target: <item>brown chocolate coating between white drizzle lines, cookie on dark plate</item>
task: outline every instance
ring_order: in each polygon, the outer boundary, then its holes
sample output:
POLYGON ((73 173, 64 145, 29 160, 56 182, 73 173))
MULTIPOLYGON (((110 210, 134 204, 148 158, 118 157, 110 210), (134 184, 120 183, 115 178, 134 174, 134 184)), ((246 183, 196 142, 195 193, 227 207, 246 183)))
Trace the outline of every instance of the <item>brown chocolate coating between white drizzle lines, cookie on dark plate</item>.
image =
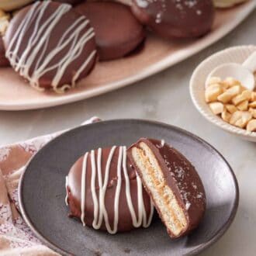
MULTIPOLYGON (((109 157, 109 153, 112 150, 112 147, 102 149, 102 157, 101 157, 101 174, 102 180, 104 181, 106 175, 106 164, 109 157)), ((99 150, 94 150, 95 159, 97 159, 99 150)), ((126 152, 126 150, 125 150, 126 152)), ((67 176, 67 203, 70 208, 70 216, 76 217, 78 219, 81 218, 81 177, 82 177, 82 169, 83 169, 83 161, 85 156, 82 156, 74 163, 69 171, 67 176)), ((115 199, 116 199, 116 189, 117 189, 117 166, 119 159, 119 147, 116 147, 114 153, 112 155, 112 161, 110 162, 109 168, 109 179, 106 186, 105 193, 105 207, 106 213, 109 219, 110 227, 113 229, 113 223, 115 220, 115 199)), ((132 168, 130 161, 126 162, 127 174, 130 181, 130 195, 131 202, 134 207, 134 211, 136 216, 138 216, 138 185, 137 185, 137 173, 132 168)), ((99 168, 96 168, 95 171, 95 190, 97 201, 99 202, 99 168)), ((92 195, 92 151, 88 153, 87 164, 86 164, 86 175, 85 175, 85 224, 86 226, 93 227, 93 221, 95 219, 94 210, 95 210, 95 202, 93 201, 92 195)), ((123 168, 121 171, 121 189, 119 193, 119 214, 118 214, 118 224, 117 224, 117 232, 129 231, 132 230, 133 220, 130 213, 130 208, 127 204, 126 199, 126 181, 124 177, 123 168)), ((102 181, 102 182, 103 182, 102 181)), ((104 183, 104 182, 103 182, 104 183)), ((144 209, 147 216, 147 220, 150 221, 150 213, 153 207, 151 208, 150 197, 147 195, 147 192, 142 187, 142 198, 144 202, 144 209)), ((100 207, 99 207, 100 208, 100 207)), ((152 211, 153 213, 153 211, 152 211)), ((98 215, 97 215, 98 217, 98 215)), ((100 230, 107 230, 106 222, 103 217, 102 225, 99 227, 100 230)))

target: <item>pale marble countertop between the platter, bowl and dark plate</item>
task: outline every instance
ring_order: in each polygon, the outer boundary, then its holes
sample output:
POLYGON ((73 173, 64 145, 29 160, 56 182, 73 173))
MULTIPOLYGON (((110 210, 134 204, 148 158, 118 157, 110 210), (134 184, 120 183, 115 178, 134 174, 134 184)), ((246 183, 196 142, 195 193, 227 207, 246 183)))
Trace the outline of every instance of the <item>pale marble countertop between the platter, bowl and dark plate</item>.
POLYGON ((200 61, 226 47, 256 44, 256 10, 232 33, 175 67, 115 92, 66 106, 23 112, 0 111, 0 145, 26 140, 79 123, 102 119, 153 119, 180 126, 213 144, 227 158, 240 186, 240 204, 227 233, 202 255, 251 256, 256 252, 256 144, 206 121, 189 96, 189 78, 200 61))

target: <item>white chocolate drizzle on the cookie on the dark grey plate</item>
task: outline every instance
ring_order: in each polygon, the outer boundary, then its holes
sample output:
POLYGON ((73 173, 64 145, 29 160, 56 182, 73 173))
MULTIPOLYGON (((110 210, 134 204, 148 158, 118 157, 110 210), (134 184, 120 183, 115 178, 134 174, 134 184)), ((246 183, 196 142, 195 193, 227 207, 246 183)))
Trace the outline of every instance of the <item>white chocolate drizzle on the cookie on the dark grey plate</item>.
MULTIPOLYGON (((149 227, 153 214, 154 214, 154 206, 153 202, 150 200, 150 214, 147 216, 145 206, 144 206, 144 197, 143 197, 143 185, 140 180, 140 177, 137 175, 137 211, 135 213, 135 209, 133 206, 133 201, 130 192, 130 178, 128 176, 127 168, 126 168, 126 147, 118 147, 119 155, 118 162, 116 167, 116 192, 114 198, 114 220, 112 223, 112 227, 109 223, 109 216, 105 206, 105 195, 106 189, 109 183, 109 171, 110 165, 112 163, 112 157, 117 150, 117 147, 114 146, 109 151, 109 156, 106 161, 106 170, 104 175, 104 180, 102 180, 102 149, 99 148, 97 152, 97 159, 95 159, 95 150, 91 150, 90 152, 90 160, 92 167, 92 178, 91 178, 91 191, 92 191, 92 201, 94 205, 94 220, 92 222, 92 227, 98 230, 102 227, 102 223, 106 225, 106 230, 109 234, 116 234, 119 223, 119 195, 122 187, 122 172, 126 185, 126 202, 127 206, 130 210, 130 216, 133 221, 133 227, 149 227), (99 184, 99 199, 97 198, 95 181, 96 177, 98 177, 99 184)), ((88 161, 88 153, 85 154, 83 158, 82 171, 81 171, 81 222, 85 226, 85 183, 86 183, 86 168, 88 161)), ((67 183, 66 183, 67 187, 67 183)))

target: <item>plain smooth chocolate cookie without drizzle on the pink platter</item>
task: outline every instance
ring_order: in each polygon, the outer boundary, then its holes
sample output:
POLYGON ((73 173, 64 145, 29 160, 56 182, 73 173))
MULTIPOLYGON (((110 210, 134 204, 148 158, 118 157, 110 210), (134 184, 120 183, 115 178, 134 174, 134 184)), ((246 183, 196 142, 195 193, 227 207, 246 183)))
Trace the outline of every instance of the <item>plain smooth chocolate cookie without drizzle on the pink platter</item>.
POLYGON ((130 11, 117 2, 85 2, 75 10, 85 15, 95 29, 100 61, 124 57, 145 39, 144 27, 130 11))

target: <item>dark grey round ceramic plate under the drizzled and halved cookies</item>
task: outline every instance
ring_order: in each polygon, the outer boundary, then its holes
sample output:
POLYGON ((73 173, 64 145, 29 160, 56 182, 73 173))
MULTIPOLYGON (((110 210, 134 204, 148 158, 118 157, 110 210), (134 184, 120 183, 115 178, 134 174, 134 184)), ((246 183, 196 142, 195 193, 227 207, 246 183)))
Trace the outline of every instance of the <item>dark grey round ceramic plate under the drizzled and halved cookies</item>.
POLYGON ((184 255, 213 244, 234 220, 237 181, 230 165, 205 141, 175 126, 119 119, 81 126, 43 147, 29 162, 19 186, 22 216, 45 244, 61 254, 184 255), (160 220, 147 229, 110 235, 67 217, 65 176, 85 151, 129 146, 140 137, 164 139, 195 165, 206 189, 206 215, 188 237, 171 240, 160 220))

